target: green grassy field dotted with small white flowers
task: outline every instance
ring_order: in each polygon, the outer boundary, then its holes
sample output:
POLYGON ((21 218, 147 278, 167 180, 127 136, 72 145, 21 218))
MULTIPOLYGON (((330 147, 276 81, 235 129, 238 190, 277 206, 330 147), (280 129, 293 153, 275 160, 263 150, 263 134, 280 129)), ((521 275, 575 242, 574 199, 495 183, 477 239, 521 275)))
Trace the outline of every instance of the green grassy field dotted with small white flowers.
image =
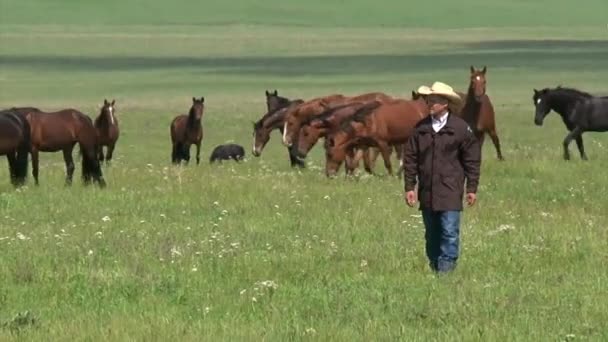
POLYGON ((305 3, 0 0, 0 107, 94 116, 115 98, 122 129, 104 190, 65 188, 59 154, 39 187, 0 167, 0 340, 608 339, 608 134, 565 162, 561 120, 534 126, 532 105, 558 84, 608 94, 607 3, 305 3), (328 180, 318 147, 292 170, 278 133, 249 154, 265 89, 464 90, 471 64, 507 161, 486 143, 448 277, 399 179, 328 180), (204 162, 173 167, 193 96, 204 162), (208 165, 229 141, 246 162, 208 165))

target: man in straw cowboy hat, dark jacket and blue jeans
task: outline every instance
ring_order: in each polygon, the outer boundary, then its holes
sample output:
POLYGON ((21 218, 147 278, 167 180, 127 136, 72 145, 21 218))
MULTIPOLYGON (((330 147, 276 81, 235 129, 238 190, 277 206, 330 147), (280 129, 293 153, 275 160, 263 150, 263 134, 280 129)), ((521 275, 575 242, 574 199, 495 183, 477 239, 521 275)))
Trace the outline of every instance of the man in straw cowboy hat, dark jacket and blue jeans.
POLYGON ((452 87, 435 82, 422 86, 430 116, 421 120, 405 146, 405 200, 420 200, 426 229, 426 254, 431 269, 450 272, 459 255, 460 213, 464 181, 469 206, 477 200, 481 150, 471 128, 449 108, 462 99, 452 87), (418 196, 414 191, 418 182, 418 196))

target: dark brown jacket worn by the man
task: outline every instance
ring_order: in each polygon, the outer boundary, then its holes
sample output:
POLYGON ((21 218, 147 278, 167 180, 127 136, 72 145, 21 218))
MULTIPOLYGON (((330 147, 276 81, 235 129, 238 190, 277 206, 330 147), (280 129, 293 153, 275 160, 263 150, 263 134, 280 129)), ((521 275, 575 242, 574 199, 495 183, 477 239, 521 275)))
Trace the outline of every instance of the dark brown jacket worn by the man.
POLYGON ((414 190, 418 178, 420 209, 462 210, 464 183, 476 193, 481 148, 467 123, 449 114, 435 133, 430 116, 421 120, 405 147, 405 191, 414 190))

